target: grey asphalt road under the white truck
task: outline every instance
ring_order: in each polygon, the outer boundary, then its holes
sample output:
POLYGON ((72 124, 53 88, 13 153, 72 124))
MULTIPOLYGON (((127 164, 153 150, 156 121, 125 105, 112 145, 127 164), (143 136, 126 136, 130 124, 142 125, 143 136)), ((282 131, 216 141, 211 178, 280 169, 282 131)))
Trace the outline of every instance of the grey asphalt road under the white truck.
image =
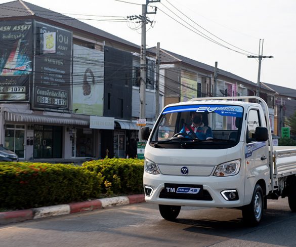
POLYGON ((5 225, 0 246, 296 246, 296 214, 269 200, 260 226, 246 227, 239 210, 183 207, 168 222, 157 205, 129 204, 5 225))

